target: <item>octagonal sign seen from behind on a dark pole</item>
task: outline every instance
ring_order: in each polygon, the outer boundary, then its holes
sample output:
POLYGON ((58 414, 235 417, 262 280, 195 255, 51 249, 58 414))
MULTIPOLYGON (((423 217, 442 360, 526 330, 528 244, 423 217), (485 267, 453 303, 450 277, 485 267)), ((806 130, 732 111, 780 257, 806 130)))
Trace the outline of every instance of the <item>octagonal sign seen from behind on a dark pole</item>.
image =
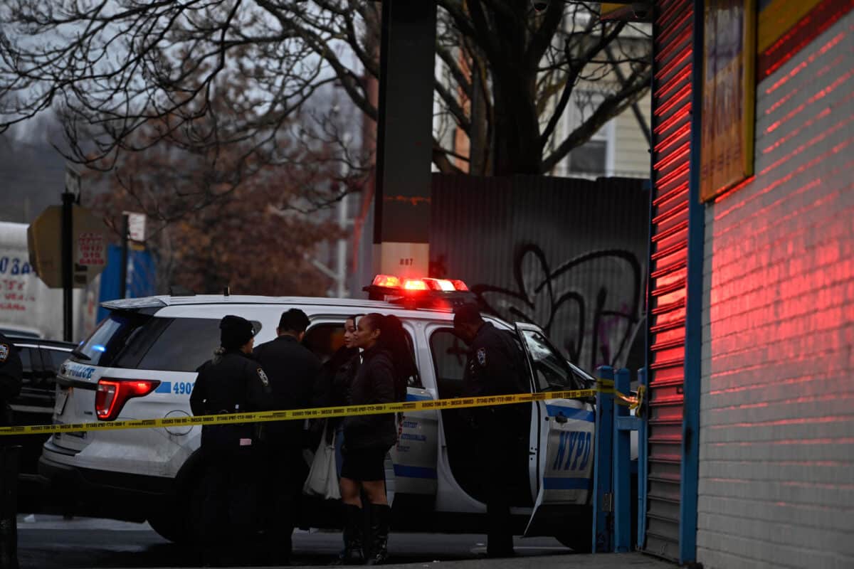
MULTIPOLYGON (((107 264, 107 228, 85 207, 73 206, 73 287, 85 287, 107 264)), ((32 267, 48 287, 62 287, 62 206, 48 206, 27 229, 32 267)))

